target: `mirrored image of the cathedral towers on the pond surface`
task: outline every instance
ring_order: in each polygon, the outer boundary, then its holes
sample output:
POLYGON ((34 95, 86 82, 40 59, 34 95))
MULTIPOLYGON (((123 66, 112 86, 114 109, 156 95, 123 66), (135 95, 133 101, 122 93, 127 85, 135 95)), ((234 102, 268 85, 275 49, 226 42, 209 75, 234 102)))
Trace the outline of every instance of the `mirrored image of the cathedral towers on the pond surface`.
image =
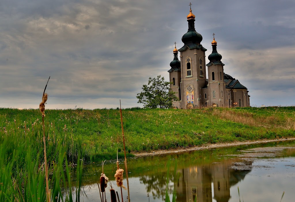
MULTIPOLYGON (((252 165, 252 162, 245 162, 252 165)), ((214 199, 217 202, 230 200, 230 187, 245 178, 251 170, 234 170, 232 163, 199 165, 178 170, 180 177, 174 184, 176 201, 212 202, 212 183, 214 199)))

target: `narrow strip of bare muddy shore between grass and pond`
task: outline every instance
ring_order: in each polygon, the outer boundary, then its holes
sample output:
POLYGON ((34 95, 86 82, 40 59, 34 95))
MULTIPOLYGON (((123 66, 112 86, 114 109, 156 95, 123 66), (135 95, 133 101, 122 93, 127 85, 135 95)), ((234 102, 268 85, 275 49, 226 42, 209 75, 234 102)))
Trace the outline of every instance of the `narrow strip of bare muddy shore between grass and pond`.
POLYGON ((255 140, 255 141, 249 140, 249 141, 232 142, 232 143, 204 144, 201 146, 182 147, 182 148, 179 147, 177 149, 169 149, 169 150, 151 150, 150 152, 137 152, 132 154, 134 154, 135 157, 165 155, 165 154, 171 154, 171 153, 183 153, 183 152, 196 151, 196 150, 202 150, 202 149, 232 147, 232 146, 238 146, 238 145, 250 145, 250 144, 268 143, 268 142, 276 142, 276 141, 286 141, 286 140, 295 140, 295 138, 279 138, 279 139, 267 139, 267 140, 255 140))

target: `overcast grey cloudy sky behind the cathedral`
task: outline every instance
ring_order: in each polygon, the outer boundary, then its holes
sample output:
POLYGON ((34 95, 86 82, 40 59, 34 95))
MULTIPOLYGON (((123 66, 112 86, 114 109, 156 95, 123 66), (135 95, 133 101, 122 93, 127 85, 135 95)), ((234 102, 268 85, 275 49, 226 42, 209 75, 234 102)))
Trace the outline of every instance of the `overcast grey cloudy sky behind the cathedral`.
MULTIPOLYGON (((189 1, 1 0, 0 107, 136 107, 149 77, 169 78, 189 1)), ((196 31, 252 106, 295 104, 294 0, 192 1, 196 31)), ((208 61, 206 61, 208 62, 208 61)))

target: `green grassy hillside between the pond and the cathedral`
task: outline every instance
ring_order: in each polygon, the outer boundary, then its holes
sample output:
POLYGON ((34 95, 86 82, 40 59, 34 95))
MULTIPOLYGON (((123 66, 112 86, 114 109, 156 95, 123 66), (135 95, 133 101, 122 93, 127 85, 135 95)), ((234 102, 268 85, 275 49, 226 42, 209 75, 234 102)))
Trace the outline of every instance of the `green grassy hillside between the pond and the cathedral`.
MULTIPOLYGON (((119 109, 45 110, 45 114, 46 144, 49 150, 52 146, 51 152, 62 142, 73 162, 78 152, 88 162, 114 159, 117 148, 119 156, 123 155, 119 109)), ((130 108, 122 110, 122 114, 128 153, 295 136, 295 107, 130 108)), ((31 138, 36 143, 30 144, 41 147, 41 119, 39 110, 0 108, 0 145, 7 138, 12 142, 14 138, 31 138)))

